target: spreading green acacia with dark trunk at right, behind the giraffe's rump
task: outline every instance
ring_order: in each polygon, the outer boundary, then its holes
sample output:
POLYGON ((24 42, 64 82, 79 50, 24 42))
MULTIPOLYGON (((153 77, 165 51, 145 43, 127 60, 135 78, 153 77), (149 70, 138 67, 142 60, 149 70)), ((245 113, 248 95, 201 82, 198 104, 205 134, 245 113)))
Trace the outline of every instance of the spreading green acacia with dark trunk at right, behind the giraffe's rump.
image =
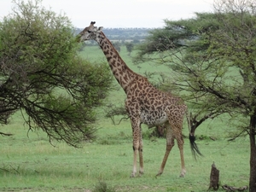
POLYGON ((195 124, 222 113, 236 119, 235 137, 250 137, 250 191, 256 191, 255 26, 255 1, 218 0, 214 13, 166 20, 166 27, 152 31, 138 55, 172 68, 171 89, 193 103, 189 109, 195 124))

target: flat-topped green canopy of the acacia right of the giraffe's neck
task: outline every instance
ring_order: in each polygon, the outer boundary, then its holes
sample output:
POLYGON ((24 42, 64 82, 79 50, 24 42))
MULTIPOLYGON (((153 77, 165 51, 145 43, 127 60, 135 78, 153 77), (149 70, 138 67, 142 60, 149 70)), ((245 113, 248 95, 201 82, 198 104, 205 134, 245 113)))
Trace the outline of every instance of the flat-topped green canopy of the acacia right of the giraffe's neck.
MULTIPOLYGON (((202 50, 209 47, 205 34, 212 30, 217 30, 221 24, 218 22, 216 15, 212 13, 195 13, 196 17, 188 20, 165 20, 164 28, 149 31, 146 41, 138 46, 139 52, 137 59, 151 60, 150 54, 165 53, 168 50, 170 55, 179 53, 186 49, 186 52, 193 54, 203 54, 202 50), (170 52, 172 50, 172 53, 170 52), (149 55, 148 55, 149 54, 149 55)), ((183 55, 188 59, 196 59, 191 55, 183 55)), ((166 55, 166 53, 165 53, 166 55)), ((161 58, 163 59, 163 57, 161 58)), ((164 60, 166 61, 166 59, 164 60)), ((195 61, 189 61, 195 63, 195 61)))

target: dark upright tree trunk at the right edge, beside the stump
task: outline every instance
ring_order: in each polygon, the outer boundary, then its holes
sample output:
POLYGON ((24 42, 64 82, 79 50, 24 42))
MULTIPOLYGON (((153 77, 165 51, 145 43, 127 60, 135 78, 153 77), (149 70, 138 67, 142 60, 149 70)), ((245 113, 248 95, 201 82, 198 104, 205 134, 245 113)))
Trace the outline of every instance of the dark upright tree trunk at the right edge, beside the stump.
POLYGON ((250 120, 250 144, 251 144, 251 156, 250 156, 250 183, 249 191, 256 191, 256 146, 255 146, 255 127, 256 116, 251 116, 250 120))

